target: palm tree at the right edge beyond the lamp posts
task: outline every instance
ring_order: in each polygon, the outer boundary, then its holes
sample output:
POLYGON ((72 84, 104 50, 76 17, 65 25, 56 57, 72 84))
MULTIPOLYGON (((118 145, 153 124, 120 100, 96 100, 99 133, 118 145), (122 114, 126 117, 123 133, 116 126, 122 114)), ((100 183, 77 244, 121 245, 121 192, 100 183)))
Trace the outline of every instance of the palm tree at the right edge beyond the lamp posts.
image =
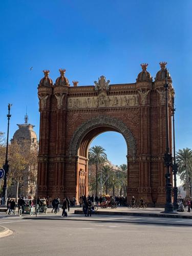
POLYGON ((189 180, 192 178, 192 151, 186 147, 183 150, 179 150, 176 155, 178 174, 182 181, 184 181, 183 187, 187 190, 187 197, 189 197, 189 180))

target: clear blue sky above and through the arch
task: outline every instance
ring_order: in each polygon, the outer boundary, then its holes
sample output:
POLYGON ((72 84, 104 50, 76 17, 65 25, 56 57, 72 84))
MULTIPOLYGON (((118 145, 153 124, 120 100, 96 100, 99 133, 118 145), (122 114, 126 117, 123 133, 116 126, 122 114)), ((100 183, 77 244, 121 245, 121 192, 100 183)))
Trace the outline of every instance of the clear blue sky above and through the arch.
MULTIPOLYGON (((176 145, 191 148, 191 7, 191 0, 1 1, 0 131, 7 130, 10 102, 10 137, 24 122, 26 106, 38 135, 37 84, 43 69, 55 81, 58 69, 66 68, 71 84, 94 84, 100 75, 129 83, 140 63, 147 62, 155 77, 159 62, 167 61, 176 91, 176 145)), ((125 142, 118 136, 107 133, 93 141, 115 164, 126 162, 125 142)))

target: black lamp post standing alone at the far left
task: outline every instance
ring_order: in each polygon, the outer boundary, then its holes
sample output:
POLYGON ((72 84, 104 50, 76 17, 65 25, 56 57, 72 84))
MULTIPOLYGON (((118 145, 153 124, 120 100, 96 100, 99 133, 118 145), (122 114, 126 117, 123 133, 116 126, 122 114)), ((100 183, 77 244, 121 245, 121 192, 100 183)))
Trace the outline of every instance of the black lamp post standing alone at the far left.
POLYGON ((4 186, 3 186, 3 197, 4 197, 4 202, 7 203, 7 174, 9 172, 9 164, 8 164, 8 144, 9 144, 9 120, 11 118, 10 115, 10 109, 11 109, 12 104, 8 104, 8 125, 7 125, 7 146, 6 146, 6 156, 5 156, 5 164, 3 166, 5 170, 5 176, 4 176, 4 186))

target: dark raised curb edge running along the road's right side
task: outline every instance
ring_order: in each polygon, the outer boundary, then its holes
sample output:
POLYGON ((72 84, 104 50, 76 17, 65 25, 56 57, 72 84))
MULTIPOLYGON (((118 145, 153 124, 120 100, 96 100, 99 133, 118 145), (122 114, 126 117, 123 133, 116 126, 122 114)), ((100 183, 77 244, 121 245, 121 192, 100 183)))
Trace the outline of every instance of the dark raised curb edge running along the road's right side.
MULTIPOLYGON (((75 210, 74 214, 83 215, 82 210, 75 210)), ((115 215, 115 216, 142 216, 142 217, 158 217, 158 218, 177 218, 177 219, 192 219, 192 215, 175 214, 150 214, 145 212, 117 212, 117 211, 96 211, 95 215, 115 215)))

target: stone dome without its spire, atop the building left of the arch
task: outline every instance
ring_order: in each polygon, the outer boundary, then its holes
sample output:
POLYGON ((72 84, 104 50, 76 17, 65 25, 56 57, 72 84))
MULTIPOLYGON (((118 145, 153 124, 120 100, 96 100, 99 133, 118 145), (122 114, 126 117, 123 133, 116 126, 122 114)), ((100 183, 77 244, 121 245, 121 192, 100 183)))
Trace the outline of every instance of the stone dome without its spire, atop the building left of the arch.
POLYGON ((23 123, 17 124, 18 130, 13 135, 13 140, 17 140, 18 142, 22 142, 23 140, 29 140, 31 142, 31 146, 37 146, 37 135, 33 131, 34 125, 23 123))

